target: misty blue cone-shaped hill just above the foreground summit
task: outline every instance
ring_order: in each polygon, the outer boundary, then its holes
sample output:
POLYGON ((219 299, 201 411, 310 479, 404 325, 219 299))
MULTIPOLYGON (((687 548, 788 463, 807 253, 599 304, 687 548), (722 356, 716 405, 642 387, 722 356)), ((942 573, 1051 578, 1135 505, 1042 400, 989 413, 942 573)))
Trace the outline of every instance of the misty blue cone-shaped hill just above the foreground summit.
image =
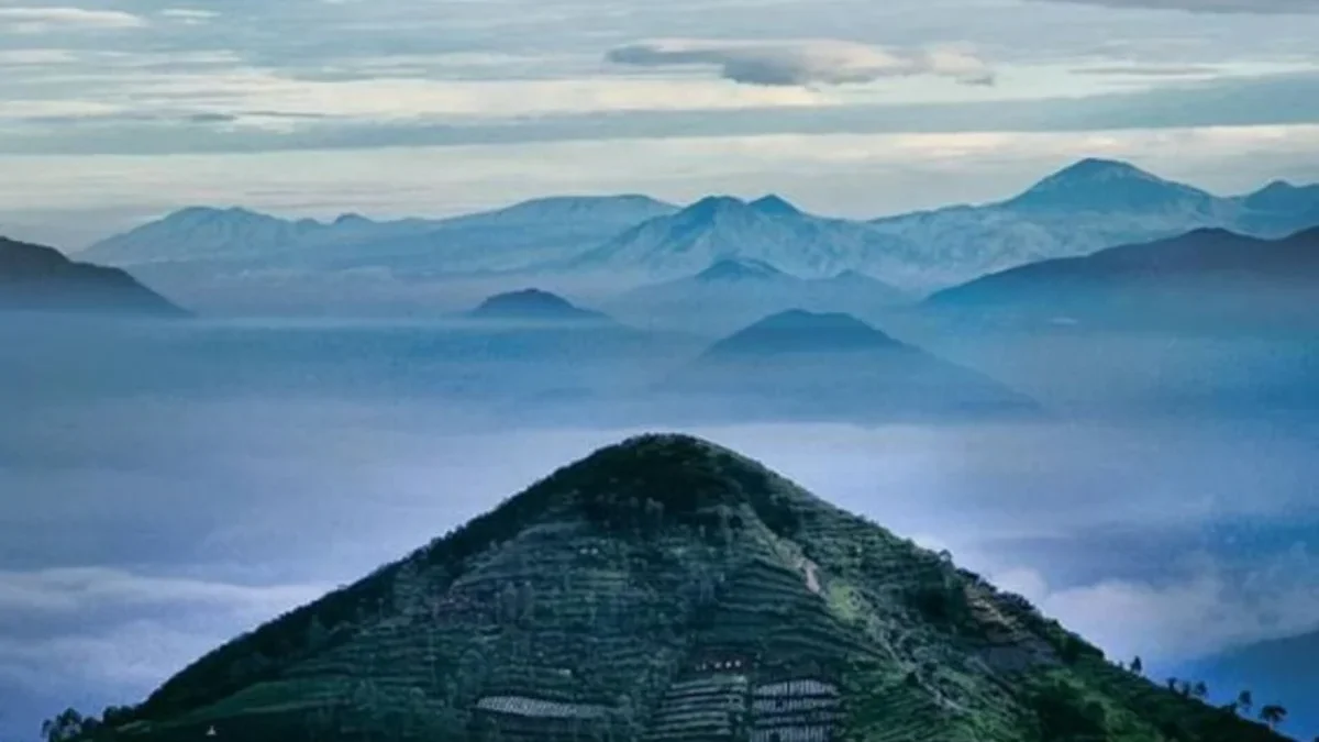
POLYGON ((1038 412, 1030 399, 842 313, 789 310, 711 346, 660 384, 669 409, 880 421, 1038 412))

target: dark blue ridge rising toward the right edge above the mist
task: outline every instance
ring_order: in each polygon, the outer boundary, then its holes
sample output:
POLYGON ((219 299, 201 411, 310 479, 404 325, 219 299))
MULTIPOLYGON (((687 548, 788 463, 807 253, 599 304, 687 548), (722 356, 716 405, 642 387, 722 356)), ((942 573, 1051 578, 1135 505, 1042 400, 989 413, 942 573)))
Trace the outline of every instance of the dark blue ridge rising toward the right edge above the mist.
POLYGON ((1220 228, 1043 260, 935 293, 934 309, 1037 322, 1316 325, 1319 228, 1266 240, 1220 228))

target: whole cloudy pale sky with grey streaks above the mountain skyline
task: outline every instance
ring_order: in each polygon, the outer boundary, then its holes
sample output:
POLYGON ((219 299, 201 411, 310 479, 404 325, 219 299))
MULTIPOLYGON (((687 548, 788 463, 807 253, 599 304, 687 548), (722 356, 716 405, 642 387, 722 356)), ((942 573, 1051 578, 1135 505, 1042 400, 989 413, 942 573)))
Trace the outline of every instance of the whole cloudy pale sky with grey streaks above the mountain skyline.
POLYGON ((1319 180, 1316 36, 1315 0, 0 0, 0 228, 613 191, 880 215, 1089 154, 1242 191, 1319 180))

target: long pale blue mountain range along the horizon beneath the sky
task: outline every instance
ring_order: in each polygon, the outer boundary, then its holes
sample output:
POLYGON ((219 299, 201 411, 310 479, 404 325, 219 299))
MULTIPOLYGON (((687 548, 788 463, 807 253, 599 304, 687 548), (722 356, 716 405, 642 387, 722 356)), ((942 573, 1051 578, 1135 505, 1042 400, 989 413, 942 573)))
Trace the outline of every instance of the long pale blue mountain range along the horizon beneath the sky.
MULTIPOLYGON (((604 276, 617 290, 696 276, 723 260, 798 279, 856 271, 929 292, 1017 265, 1202 228, 1281 238, 1319 224, 1319 186, 1273 182, 1217 197, 1130 164, 1083 160, 1006 201, 871 222, 803 213, 777 195, 703 198, 685 209, 642 195, 557 197, 451 219, 323 223, 193 207, 88 248, 90 259, 179 275, 375 271, 397 277, 604 276), (197 271, 206 265, 206 271, 197 271), (189 271, 191 268, 191 271, 189 271)), ((351 300, 351 292, 343 300, 351 300)))

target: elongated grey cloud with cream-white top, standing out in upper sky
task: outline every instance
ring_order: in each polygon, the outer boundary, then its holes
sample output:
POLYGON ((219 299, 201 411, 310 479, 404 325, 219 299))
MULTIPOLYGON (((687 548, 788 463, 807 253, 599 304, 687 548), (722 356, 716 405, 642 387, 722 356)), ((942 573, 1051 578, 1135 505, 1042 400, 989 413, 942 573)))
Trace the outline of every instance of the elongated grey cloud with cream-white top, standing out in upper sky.
POLYGON ((867 83, 914 75, 947 77, 968 84, 995 79, 984 61, 954 46, 907 51, 838 40, 657 40, 619 46, 607 58, 641 67, 715 67, 725 79, 761 86, 867 83))

